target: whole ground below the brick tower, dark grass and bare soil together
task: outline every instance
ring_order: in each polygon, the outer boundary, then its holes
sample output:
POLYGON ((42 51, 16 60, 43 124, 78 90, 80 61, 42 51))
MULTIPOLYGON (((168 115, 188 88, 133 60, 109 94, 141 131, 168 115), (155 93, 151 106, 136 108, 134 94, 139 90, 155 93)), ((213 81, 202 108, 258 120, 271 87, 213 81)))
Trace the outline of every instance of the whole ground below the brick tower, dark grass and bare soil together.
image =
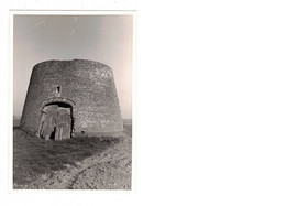
POLYGON ((14 128, 14 188, 130 188, 132 123, 124 129, 125 138, 44 141, 14 128))

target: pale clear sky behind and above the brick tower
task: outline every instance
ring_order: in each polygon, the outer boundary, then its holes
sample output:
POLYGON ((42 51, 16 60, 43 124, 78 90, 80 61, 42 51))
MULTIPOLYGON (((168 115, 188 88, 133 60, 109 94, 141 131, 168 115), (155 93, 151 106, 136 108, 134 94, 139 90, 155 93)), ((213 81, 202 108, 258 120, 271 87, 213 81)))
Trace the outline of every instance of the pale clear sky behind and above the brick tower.
POLYGON ((14 116, 35 64, 80 58, 113 69, 122 118, 132 118, 132 15, 14 15, 13 23, 14 116))

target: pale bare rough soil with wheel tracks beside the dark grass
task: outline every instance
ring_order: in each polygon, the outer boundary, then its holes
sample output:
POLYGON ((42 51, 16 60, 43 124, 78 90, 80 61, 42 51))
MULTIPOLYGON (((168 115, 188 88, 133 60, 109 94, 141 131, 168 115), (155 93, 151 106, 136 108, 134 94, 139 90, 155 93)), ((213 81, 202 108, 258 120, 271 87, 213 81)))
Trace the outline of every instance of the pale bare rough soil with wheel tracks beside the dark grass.
MULTIPOLYGON (((132 124, 125 128, 132 128, 132 124)), ((65 164, 63 170, 41 174, 28 184, 14 182, 14 188, 131 189, 132 132, 128 130, 125 137, 119 138, 118 143, 111 144, 102 152, 75 164, 65 164)))

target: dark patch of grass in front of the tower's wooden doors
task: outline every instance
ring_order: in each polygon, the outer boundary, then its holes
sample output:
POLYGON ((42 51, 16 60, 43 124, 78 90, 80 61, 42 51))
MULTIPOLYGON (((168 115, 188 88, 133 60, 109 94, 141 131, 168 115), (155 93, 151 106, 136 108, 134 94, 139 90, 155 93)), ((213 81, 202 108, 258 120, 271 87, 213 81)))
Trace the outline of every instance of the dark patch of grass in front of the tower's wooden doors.
MULTIPOLYGON (((130 128, 129 128, 130 129, 130 128)), ((65 169, 67 164, 100 154, 114 145, 119 139, 74 138, 64 141, 45 141, 29 137, 14 128, 13 139, 13 181, 28 184, 42 174, 65 169)))

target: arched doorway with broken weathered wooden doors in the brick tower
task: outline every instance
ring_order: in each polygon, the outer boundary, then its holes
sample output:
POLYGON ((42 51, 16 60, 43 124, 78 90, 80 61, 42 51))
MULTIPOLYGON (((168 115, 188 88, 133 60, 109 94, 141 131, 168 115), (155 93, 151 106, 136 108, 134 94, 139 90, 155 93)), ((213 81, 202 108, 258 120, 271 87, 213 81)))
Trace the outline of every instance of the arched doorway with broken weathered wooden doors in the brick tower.
POLYGON ((70 139, 74 121, 73 107, 67 102, 52 101, 42 107, 37 135, 45 140, 70 139))

